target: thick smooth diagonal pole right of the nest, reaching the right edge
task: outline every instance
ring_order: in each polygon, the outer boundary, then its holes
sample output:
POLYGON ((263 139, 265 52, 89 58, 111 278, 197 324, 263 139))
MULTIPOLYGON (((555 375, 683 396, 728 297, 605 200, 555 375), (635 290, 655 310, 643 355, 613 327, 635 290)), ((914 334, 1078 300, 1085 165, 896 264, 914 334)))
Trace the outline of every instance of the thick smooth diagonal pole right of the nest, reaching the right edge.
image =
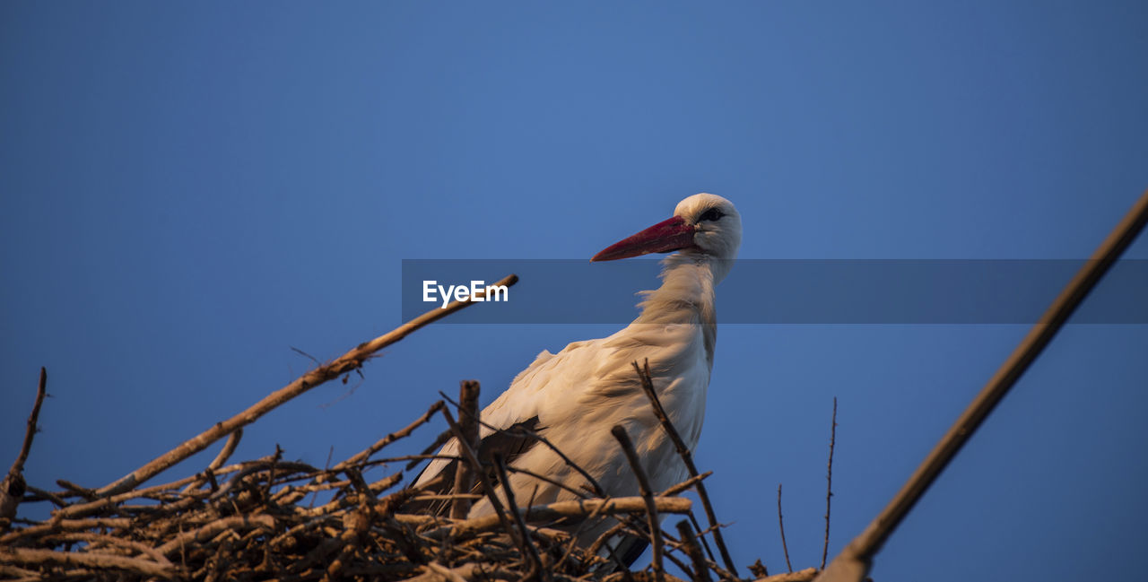
POLYGON ((1001 364, 1001 367, 982 388, 977 397, 945 433, 945 436, 933 447, 933 450, 914 471, 897 496, 889 502, 889 505, 866 527, 861 535, 850 542, 841 550, 841 553, 833 558, 829 569, 819 576, 819 580, 848 581, 861 580, 866 576, 874 554, 881 550, 890 534, 897 529, 905 515, 916 505, 953 457, 960 452, 969 437, 1013 388, 1013 385, 1032 365, 1032 362, 1048 346, 1088 293, 1096 287, 1096 284, 1119 258, 1120 254, 1135 240, 1146 223, 1148 223, 1148 191, 1145 191, 1128 210, 1128 214, 1120 219, 1116 228, 1092 254, 1088 262, 1061 290, 1061 294, 1041 316, 1040 321, 1032 326, 1029 334, 1001 364))

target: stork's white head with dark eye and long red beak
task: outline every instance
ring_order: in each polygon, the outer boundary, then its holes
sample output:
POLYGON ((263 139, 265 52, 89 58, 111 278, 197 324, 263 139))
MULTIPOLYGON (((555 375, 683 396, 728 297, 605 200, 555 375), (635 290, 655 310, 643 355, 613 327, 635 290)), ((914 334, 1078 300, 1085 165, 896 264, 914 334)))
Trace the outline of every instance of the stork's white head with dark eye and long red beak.
POLYGON ((728 261, 742 245, 742 216, 716 194, 695 194, 677 203, 674 216, 611 245, 590 261, 614 261, 650 253, 695 254, 728 261))

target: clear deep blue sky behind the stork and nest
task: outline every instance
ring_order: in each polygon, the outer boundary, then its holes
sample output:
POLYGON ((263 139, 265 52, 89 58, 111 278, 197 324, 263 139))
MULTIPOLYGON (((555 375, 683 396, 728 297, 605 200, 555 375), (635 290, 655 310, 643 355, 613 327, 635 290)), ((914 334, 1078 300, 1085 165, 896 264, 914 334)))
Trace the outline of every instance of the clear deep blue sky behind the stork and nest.
MULTIPOLYGON (((102 486, 308 368, 289 347, 397 325, 403 258, 589 258, 696 192, 737 204, 746 258, 1085 257, 1148 186, 1146 26, 1142 1, 0 3, 0 463, 41 365, 30 482, 102 486)), ((615 329, 436 326, 238 455, 344 458, 615 329)), ((743 572, 783 568, 778 482, 794 566, 820 558, 833 396, 831 552, 1025 331, 723 327, 697 458, 743 572)), ((1139 575, 1146 348, 1069 326, 875 579, 1139 575)))

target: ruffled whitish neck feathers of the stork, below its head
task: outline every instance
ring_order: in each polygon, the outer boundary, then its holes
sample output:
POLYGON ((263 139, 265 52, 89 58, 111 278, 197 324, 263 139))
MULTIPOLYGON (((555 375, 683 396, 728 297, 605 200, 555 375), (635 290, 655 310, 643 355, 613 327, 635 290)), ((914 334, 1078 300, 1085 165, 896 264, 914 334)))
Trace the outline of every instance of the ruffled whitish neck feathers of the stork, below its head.
POLYGON ((682 251, 662 261, 661 287, 643 292, 642 315, 634 324, 690 324, 700 327, 706 360, 712 365, 718 340, 714 286, 729 272, 729 262, 699 251, 682 251))

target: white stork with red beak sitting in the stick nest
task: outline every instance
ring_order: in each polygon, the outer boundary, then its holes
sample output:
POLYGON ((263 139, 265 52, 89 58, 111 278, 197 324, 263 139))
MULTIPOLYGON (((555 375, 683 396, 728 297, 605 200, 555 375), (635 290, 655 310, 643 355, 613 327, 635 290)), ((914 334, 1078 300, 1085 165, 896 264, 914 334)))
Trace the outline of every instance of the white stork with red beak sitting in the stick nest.
MULTIPOLYGON (((510 467, 545 475, 575 490, 590 484, 550 448, 537 440, 509 436, 525 427, 544 436, 581 466, 612 497, 638 495, 638 484, 618 441, 614 425, 626 428, 654 491, 683 481, 687 468, 666 437, 642 391, 633 362, 649 360, 653 386, 666 413, 692 450, 701 434, 706 390, 713 367, 716 316, 714 287, 737 256, 742 219, 730 201, 714 194, 695 194, 677 204, 674 216, 595 255, 613 261, 650 253, 672 253, 662 261, 661 287, 643 292, 642 313, 625 329, 600 340, 574 342, 558 354, 543 350, 510 388, 481 413, 479 456, 501 452, 510 467), (499 433, 496 427, 504 429, 499 433)), ((458 456, 450 441, 441 455, 458 456)), ((448 459, 432 461, 414 486, 425 486, 444 470, 448 459)), ((452 482, 440 480, 428 492, 450 492, 452 482)), ((520 505, 577 498, 573 492, 525 473, 511 472, 510 482, 520 505)), ((503 498, 505 504, 505 498, 503 498)), ((430 511, 442 512, 445 504, 430 511)), ((491 513, 488 499, 478 500, 470 517, 491 513)), ((596 540, 608 523, 582 528, 580 541, 596 540)), ((633 562, 645 544, 619 549, 633 562)))

